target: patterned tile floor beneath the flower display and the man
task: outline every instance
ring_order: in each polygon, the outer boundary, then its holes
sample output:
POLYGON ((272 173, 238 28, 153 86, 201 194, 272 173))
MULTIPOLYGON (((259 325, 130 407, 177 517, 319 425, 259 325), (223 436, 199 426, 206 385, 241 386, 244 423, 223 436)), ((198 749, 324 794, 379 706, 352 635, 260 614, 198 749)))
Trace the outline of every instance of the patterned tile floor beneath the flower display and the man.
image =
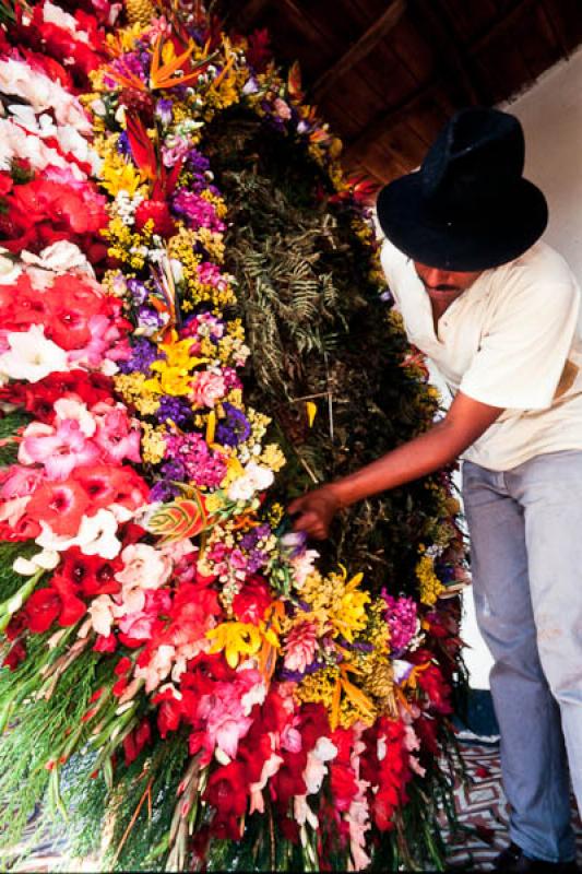
MULTIPOLYGON (((448 864, 453 871, 486 872, 491 869, 492 860, 508 842, 508 808, 501 788, 499 748, 496 743, 485 744, 478 740, 462 741, 461 748, 468 781, 466 786, 459 786, 456 789, 456 807, 462 830, 449 840, 448 864)), ((579 861, 582 862, 582 823, 574 805, 572 817, 577 828, 579 861)), ((27 831, 22 845, 13 849, 11 858, 0 859, 0 870, 11 869, 21 874, 49 874, 71 870, 67 860, 64 829, 58 835, 47 835, 39 840, 34 835, 33 820, 27 831), (29 841, 31 838, 36 843, 34 852, 25 862, 14 864, 26 840, 29 841)), ((99 866, 95 861, 86 860, 82 865, 75 861, 74 870, 99 871, 99 866)))

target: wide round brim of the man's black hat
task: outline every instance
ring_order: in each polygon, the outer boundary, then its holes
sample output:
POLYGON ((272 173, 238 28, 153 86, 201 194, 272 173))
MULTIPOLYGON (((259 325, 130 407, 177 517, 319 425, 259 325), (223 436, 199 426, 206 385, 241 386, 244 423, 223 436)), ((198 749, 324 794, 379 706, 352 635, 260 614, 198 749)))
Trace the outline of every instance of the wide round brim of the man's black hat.
POLYGON ((385 236, 414 261, 440 270, 476 271, 504 264, 526 251, 544 233, 547 203, 542 191, 521 179, 495 212, 477 221, 438 221, 427 209, 420 172, 384 186, 378 221, 385 236))

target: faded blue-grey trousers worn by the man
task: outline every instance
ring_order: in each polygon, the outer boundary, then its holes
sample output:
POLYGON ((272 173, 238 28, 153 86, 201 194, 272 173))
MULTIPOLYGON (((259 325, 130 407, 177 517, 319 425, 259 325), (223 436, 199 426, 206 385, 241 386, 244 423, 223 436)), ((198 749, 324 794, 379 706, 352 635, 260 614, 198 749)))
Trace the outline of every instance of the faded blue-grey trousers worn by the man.
POLYGON ((582 451, 502 473, 465 461, 463 498, 510 837, 526 855, 568 861, 568 764, 582 811, 582 451))

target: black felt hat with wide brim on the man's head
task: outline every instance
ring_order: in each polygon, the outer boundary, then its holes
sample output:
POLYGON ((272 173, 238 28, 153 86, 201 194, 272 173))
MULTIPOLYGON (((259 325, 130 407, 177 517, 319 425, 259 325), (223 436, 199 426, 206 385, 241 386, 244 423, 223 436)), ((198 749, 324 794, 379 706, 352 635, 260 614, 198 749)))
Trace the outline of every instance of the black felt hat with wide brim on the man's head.
POLYGON ((544 233, 542 191, 523 178, 523 130, 509 113, 461 109, 419 170, 387 185, 378 221, 405 255, 441 270, 472 271, 512 261, 544 233))

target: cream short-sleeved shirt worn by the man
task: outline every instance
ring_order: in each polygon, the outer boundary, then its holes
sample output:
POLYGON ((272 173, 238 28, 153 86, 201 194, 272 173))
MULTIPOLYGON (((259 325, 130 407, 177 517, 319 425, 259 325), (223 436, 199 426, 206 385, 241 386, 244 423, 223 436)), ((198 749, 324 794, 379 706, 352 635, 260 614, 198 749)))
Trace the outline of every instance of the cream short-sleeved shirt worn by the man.
POLYGON ((503 413, 463 458, 506 471, 534 456, 582 449, 580 288, 563 258, 536 243, 486 270, 440 317, 411 259, 384 241, 390 291, 411 343, 454 394, 503 413))

